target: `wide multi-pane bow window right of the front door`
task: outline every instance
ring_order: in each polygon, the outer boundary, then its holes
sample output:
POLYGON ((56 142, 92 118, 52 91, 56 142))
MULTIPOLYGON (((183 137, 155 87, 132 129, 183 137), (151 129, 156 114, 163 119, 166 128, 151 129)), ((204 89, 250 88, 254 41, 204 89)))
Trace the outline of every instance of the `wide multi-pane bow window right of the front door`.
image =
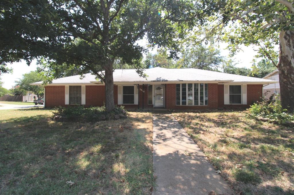
POLYGON ((208 84, 176 84, 176 105, 208 105, 208 84))

